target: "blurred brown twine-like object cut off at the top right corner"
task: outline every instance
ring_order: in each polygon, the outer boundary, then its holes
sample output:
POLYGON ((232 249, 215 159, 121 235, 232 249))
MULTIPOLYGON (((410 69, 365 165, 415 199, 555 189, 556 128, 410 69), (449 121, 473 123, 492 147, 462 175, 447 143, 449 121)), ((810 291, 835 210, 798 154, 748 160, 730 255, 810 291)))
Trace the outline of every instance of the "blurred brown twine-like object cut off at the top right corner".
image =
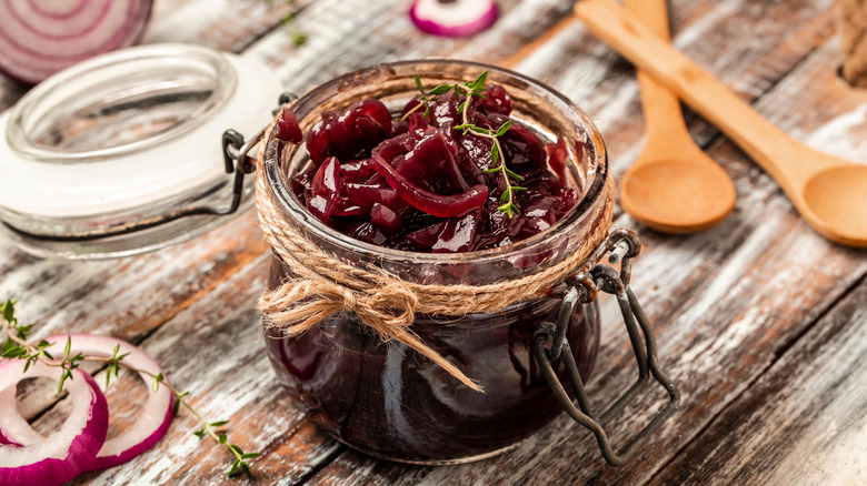
POLYGON ((837 32, 843 50, 843 78, 867 88, 867 1, 837 0, 837 32))

